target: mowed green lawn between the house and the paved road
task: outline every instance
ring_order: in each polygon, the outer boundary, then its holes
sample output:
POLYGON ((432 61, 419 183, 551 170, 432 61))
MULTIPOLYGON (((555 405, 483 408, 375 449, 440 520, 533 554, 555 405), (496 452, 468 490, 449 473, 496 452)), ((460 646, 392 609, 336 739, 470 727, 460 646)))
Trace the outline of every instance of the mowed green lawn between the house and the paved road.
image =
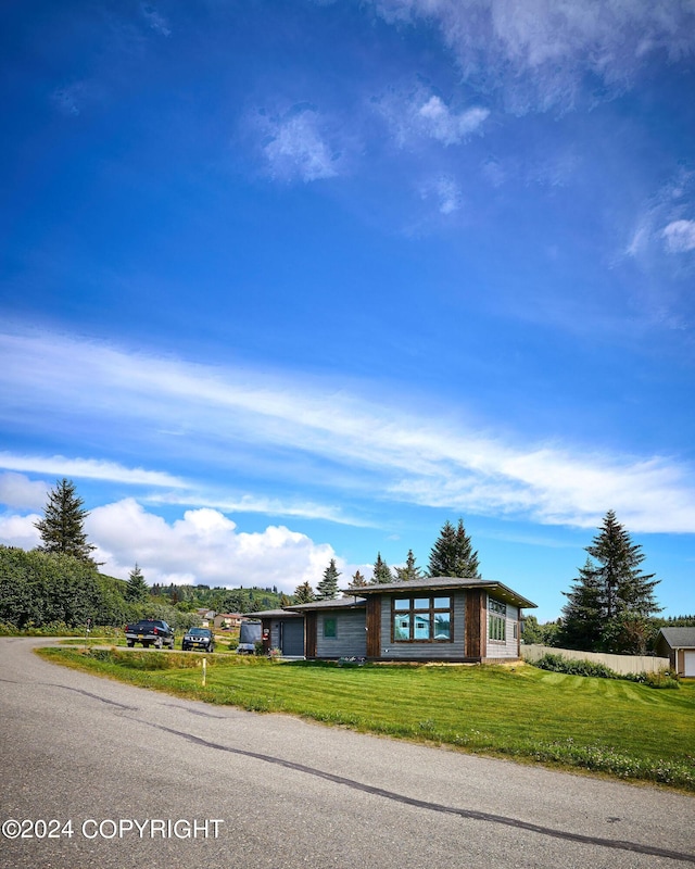
POLYGON ((338 667, 156 652, 43 648, 56 663, 254 711, 695 792, 695 683, 678 691, 509 667, 338 667), (155 668, 155 669, 153 669, 155 668))

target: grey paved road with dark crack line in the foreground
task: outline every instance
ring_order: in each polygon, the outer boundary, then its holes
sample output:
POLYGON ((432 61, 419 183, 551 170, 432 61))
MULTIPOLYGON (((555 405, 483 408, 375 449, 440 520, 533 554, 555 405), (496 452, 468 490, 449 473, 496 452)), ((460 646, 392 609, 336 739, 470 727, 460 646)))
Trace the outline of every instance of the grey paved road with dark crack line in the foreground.
POLYGON ((695 865, 695 798, 184 701, 42 642, 0 639, 0 821, 72 836, 0 835, 2 869, 695 865))

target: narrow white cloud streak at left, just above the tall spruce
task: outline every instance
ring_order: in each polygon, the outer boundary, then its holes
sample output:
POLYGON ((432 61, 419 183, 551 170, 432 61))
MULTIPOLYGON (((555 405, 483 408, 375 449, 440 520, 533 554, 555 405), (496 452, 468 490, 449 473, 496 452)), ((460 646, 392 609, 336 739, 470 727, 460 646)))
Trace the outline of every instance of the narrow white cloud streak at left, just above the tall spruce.
POLYGON ((163 471, 125 468, 115 462, 96 458, 66 458, 62 455, 14 455, 13 453, 0 452, 0 468, 24 470, 33 474, 50 474, 55 477, 110 480, 129 486, 164 486, 167 488, 182 488, 185 486, 185 482, 178 477, 163 471))

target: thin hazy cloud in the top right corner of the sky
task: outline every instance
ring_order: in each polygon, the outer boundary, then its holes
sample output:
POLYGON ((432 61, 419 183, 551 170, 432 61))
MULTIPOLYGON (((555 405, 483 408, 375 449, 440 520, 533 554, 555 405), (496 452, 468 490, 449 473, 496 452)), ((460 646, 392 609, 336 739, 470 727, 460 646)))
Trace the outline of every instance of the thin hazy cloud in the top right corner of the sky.
POLYGON ((682 0, 374 2, 387 21, 439 26, 464 79, 519 114, 610 97, 655 52, 679 60, 695 49, 695 8, 682 0), (589 76, 601 84, 584 96, 589 76))

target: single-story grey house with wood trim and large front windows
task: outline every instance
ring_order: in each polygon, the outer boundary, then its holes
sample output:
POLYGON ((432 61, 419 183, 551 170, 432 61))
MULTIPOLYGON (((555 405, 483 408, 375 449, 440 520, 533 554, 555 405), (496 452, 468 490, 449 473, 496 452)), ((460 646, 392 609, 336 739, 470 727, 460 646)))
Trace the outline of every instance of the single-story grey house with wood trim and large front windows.
POLYGON ((480 664, 520 657, 521 610, 535 607, 502 582, 454 577, 343 594, 250 615, 286 657, 480 664))

